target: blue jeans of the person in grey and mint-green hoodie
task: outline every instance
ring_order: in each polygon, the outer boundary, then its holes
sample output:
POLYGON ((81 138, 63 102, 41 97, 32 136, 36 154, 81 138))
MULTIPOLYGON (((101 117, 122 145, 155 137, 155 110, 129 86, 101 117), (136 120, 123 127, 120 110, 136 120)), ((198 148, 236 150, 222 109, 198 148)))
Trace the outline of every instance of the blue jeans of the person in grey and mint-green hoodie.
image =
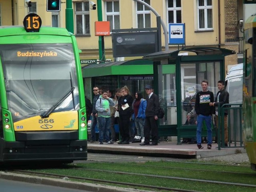
POLYGON ((106 139, 106 142, 109 142, 109 128, 110 128, 110 122, 111 118, 108 117, 98 117, 99 122, 99 142, 103 141, 103 138, 106 139))

